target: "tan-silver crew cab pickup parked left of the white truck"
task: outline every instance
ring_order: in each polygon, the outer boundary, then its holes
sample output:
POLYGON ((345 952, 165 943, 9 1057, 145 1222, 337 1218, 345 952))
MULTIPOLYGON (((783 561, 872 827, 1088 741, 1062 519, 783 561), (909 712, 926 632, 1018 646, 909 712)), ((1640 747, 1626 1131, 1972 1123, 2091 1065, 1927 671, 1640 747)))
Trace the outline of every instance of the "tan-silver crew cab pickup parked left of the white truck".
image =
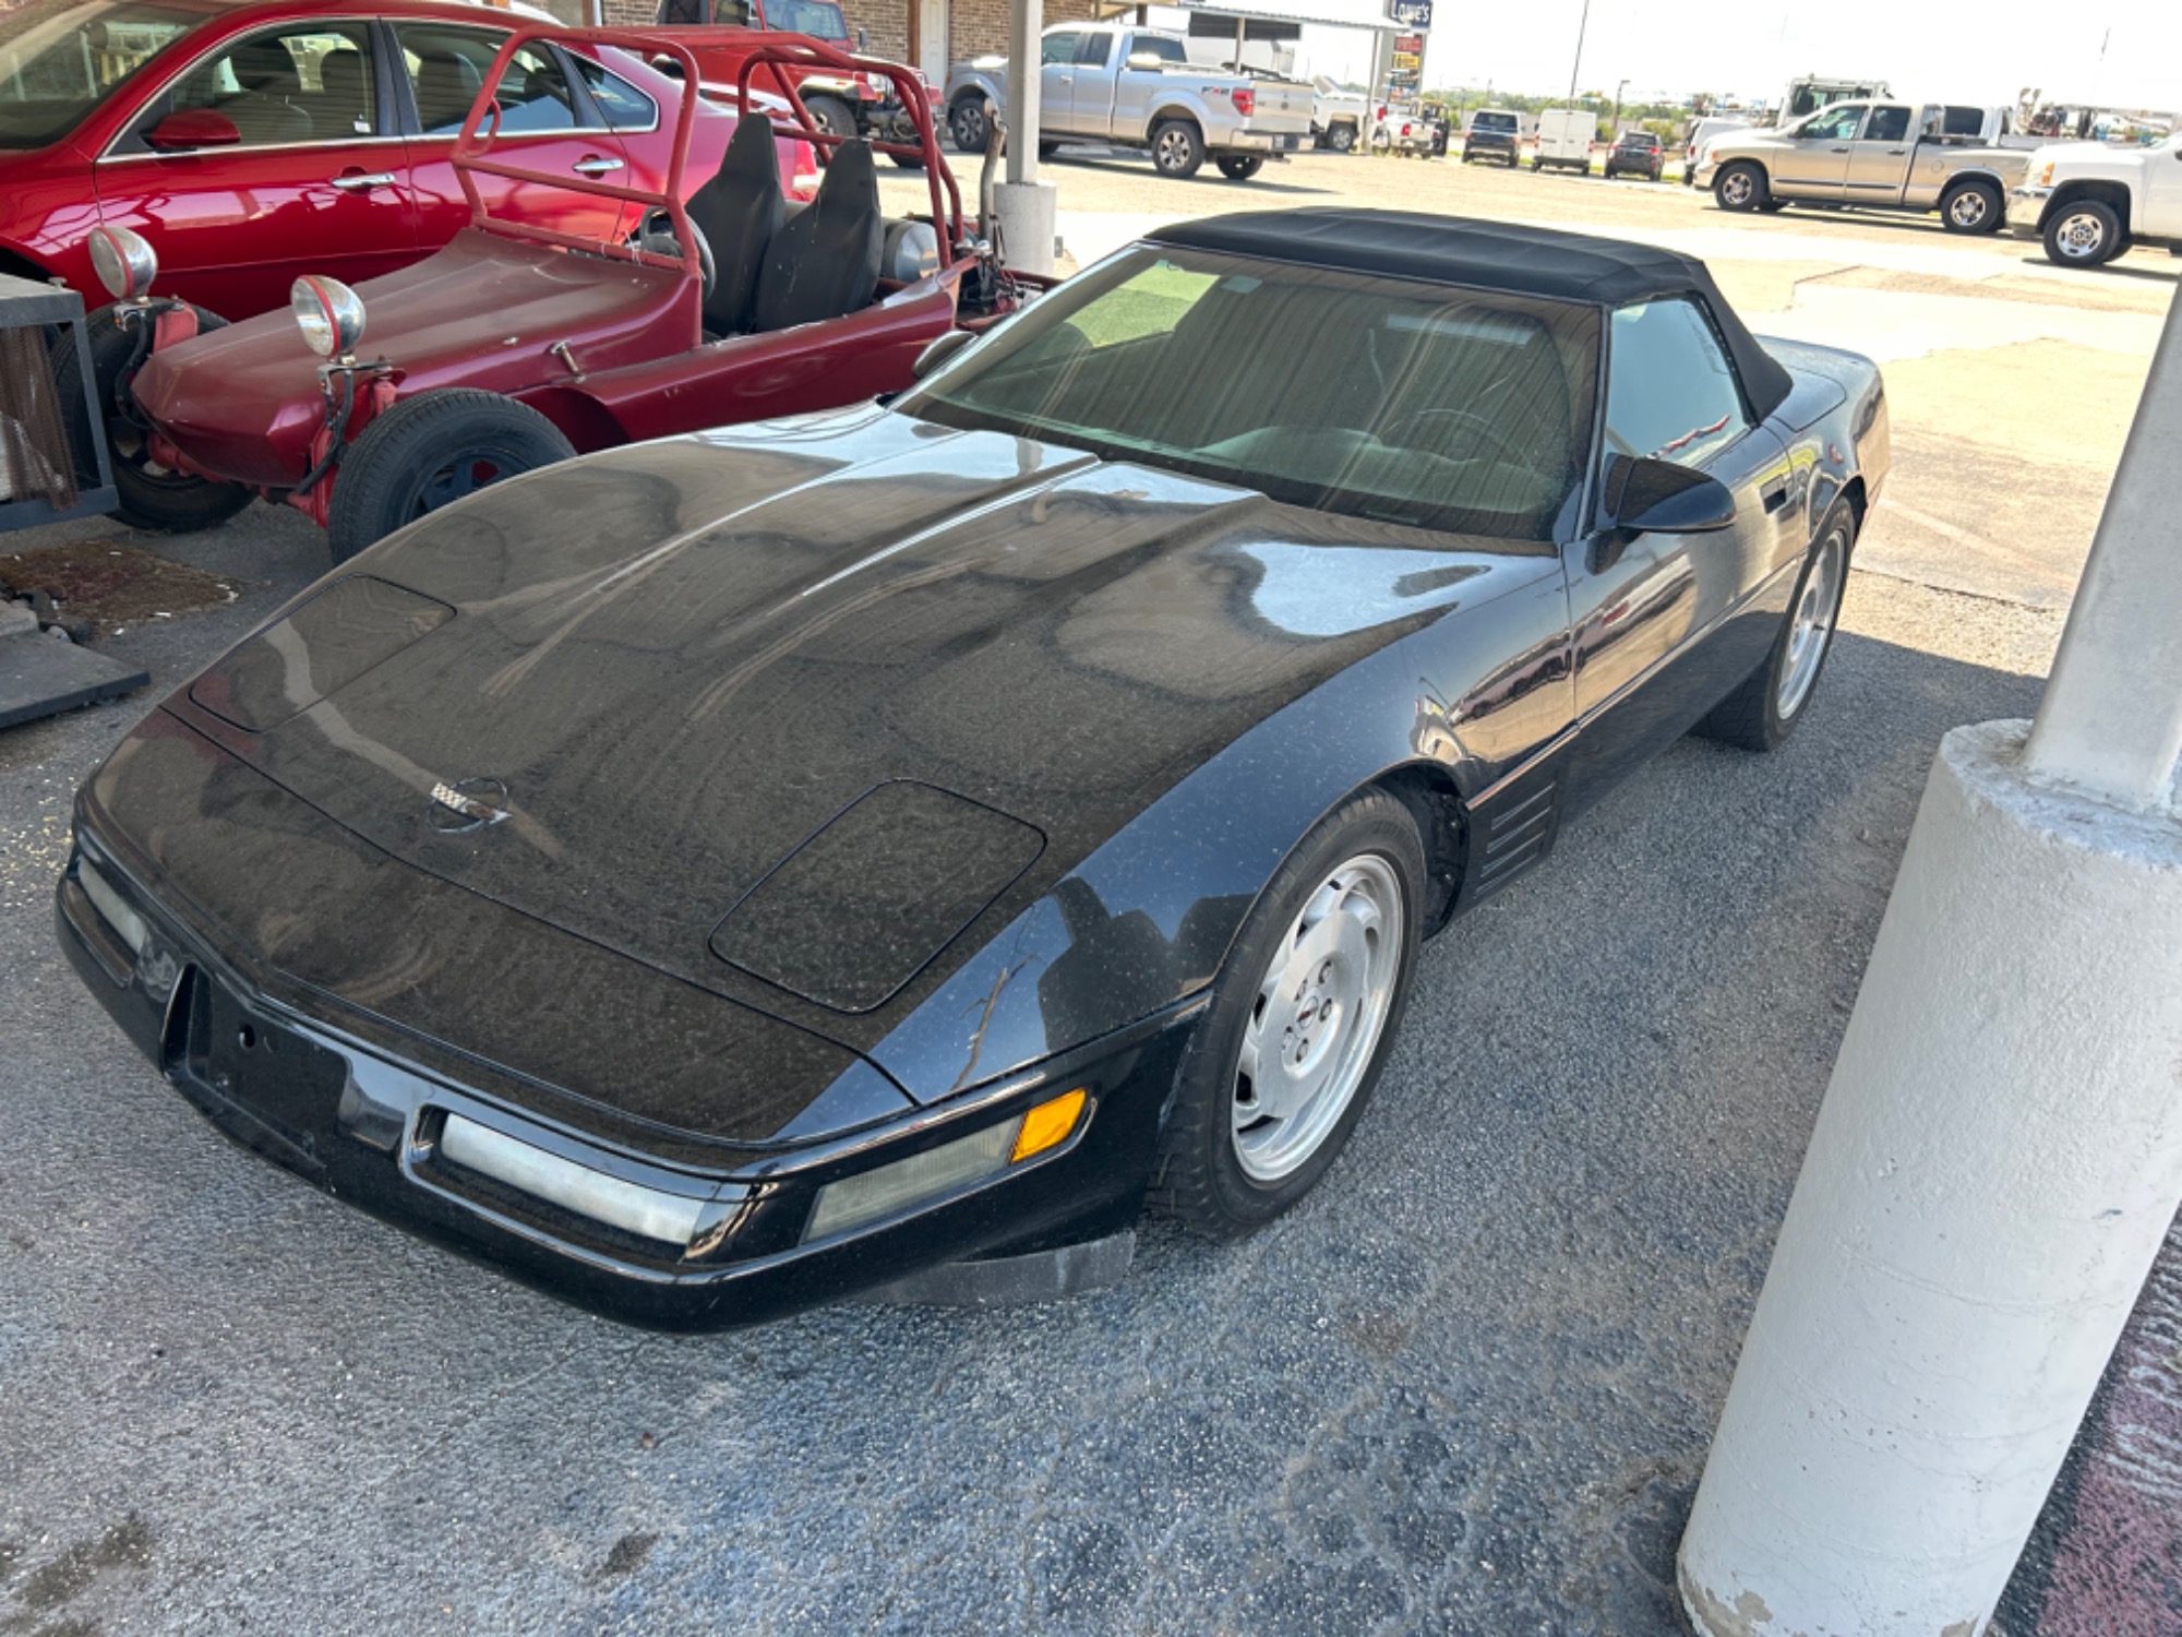
MULTIPOLYGON (((1698 164, 1695 183, 1722 210, 1938 210, 1951 234, 1992 234, 2029 153, 1949 135, 1955 113, 1944 103, 1874 98, 1835 103, 1783 131, 1726 131, 1698 164)), ((1983 109, 1962 113, 1983 118, 1983 109)))

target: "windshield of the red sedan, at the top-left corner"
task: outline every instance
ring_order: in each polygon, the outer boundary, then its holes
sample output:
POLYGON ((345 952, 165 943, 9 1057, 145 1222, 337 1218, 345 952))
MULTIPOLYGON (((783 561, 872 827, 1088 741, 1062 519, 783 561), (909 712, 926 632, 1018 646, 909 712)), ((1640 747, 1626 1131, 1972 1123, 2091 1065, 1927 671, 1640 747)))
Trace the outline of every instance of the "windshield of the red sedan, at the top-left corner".
POLYGON ((0 148, 41 148, 177 35, 199 7, 148 0, 31 0, 0 13, 0 148))

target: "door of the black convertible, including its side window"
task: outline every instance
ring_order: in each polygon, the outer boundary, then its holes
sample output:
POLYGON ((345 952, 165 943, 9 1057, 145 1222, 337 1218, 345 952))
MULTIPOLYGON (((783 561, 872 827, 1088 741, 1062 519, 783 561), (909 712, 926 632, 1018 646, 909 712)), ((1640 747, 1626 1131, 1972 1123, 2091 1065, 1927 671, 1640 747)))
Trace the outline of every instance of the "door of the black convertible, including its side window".
POLYGON ((1778 620, 1743 618, 1746 602, 1774 576, 1794 498, 1787 450, 1750 415, 1693 297, 1615 310, 1604 426, 1602 478, 1617 456, 1674 461, 1724 482, 1735 522, 1695 535, 1602 524, 1571 546, 1578 770, 1593 794, 1689 731, 1765 657, 1778 620))

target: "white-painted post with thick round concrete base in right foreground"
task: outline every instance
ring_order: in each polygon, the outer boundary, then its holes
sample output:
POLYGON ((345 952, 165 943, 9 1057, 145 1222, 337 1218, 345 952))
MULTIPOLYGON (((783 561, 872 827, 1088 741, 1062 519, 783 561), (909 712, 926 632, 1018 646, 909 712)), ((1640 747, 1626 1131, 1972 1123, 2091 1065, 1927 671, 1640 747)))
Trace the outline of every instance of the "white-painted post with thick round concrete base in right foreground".
POLYGON ((1706 1637, 1981 1633, 2182 1207, 2178 325, 2036 733, 1925 788, 1682 1539, 1706 1637))

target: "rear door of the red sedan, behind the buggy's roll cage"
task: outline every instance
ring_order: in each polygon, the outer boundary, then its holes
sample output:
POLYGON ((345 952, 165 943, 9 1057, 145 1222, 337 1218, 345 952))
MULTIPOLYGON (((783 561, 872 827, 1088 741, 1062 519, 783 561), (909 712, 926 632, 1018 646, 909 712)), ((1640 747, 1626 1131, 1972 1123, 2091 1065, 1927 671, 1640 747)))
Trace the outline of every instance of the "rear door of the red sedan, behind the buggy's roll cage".
MULTIPOLYGON (((388 26, 417 190, 417 234, 425 249, 439 249, 469 225, 469 199, 452 162, 454 140, 506 31, 410 17, 395 17, 388 26)), ((556 48, 530 41, 517 50, 495 100, 500 129, 493 159, 541 177, 628 186, 628 148, 607 129, 580 76, 570 72, 556 48)), ((487 175, 478 175, 476 183, 487 214, 502 220, 607 242, 620 240, 635 225, 635 205, 620 199, 487 175)))

